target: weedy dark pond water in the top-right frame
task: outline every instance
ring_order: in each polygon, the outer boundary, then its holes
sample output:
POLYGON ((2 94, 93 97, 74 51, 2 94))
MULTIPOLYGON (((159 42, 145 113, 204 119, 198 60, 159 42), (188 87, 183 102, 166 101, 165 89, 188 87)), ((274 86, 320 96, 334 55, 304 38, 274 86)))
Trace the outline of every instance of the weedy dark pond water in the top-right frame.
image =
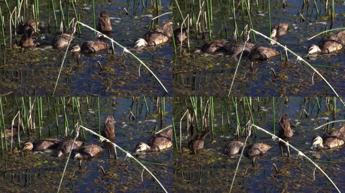
MULTIPOLYGON (((232 1, 229 2, 232 4, 232 1)), ((256 7, 256 1, 250 2, 252 8, 251 20, 254 30, 269 36, 267 1, 258 1, 259 11, 256 7)), ((326 29, 344 26, 345 15, 343 13, 345 7, 343 2, 335 1, 336 17, 333 25, 331 25, 330 16, 325 16, 323 1, 316 1, 319 15, 317 15, 313 1, 309 1, 309 7, 303 6, 303 2, 286 1, 287 6, 283 8, 282 1, 271 1, 271 25, 287 23, 290 26, 290 31, 278 38, 277 41, 299 54, 310 64, 322 65, 314 67, 329 81, 339 95, 343 95, 345 93, 343 87, 345 80, 342 75, 345 61, 344 49, 330 55, 317 56, 307 54, 308 46, 317 44, 324 36, 318 36, 312 40, 307 40, 308 38, 326 29), (300 19, 300 14, 303 15, 305 21, 300 19)), ((191 5, 192 1, 187 1, 187 3, 180 1, 180 8, 184 17, 192 13, 191 5)), ((206 11, 206 3, 204 7, 206 11)), ((198 16, 199 3, 195 5, 195 12, 197 12, 198 16)), ((220 9, 218 1, 214 2, 212 4, 212 12, 212 40, 227 38, 232 41, 234 39, 234 17, 228 1, 223 2, 222 9, 220 9), (221 18, 221 10, 224 13, 227 37, 221 18)), ((247 25, 249 18, 246 8, 245 13, 244 24, 247 25)), ((200 20, 202 20, 202 17, 200 20)), ((175 25, 182 23, 180 13, 177 10, 175 10, 174 22, 175 25)), ((239 34, 241 34, 243 31, 241 4, 238 5, 236 10, 236 22, 239 34)), ((190 26, 190 28, 191 31, 194 30, 194 26, 190 26)), ((205 31, 205 33, 208 35, 208 31, 205 31)), ((333 34, 335 33, 337 31, 333 32, 333 34)), ((302 61, 297 61, 296 56, 289 53, 289 61, 286 62, 283 48, 277 45, 270 46, 269 42, 259 35, 255 35, 255 39, 256 41, 251 37, 251 43, 281 51, 283 61, 280 61, 279 56, 268 61, 250 60, 248 57, 243 57, 236 74, 231 95, 334 95, 328 85, 316 73, 314 74, 310 67, 302 61), (276 77, 272 69, 277 74, 276 77)), ((203 41, 201 34, 196 37, 195 33, 191 32, 190 49, 188 50, 187 43, 184 43, 183 54, 180 55, 180 47, 178 48, 178 54, 174 56, 174 62, 172 62, 174 66, 174 96, 223 96, 228 94, 238 59, 233 59, 221 51, 214 54, 193 53, 196 47, 201 47, 207 41, 203 41)), ((243 36, 239 38, 239 41, 243 42, 243 36)))

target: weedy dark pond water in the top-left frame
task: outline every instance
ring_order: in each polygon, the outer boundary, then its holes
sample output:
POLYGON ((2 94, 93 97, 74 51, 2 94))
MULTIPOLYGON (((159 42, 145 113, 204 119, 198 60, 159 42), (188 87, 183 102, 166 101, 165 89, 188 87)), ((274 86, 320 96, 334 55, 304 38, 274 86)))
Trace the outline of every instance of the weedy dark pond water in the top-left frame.
MULTIPOLYGON (((10 8, 15 7, 15 1, 10 2, 10 8)), ((7 49, 0 50, 0 93, 15 96, 50 96, 53 92, 57 75, 61 67, 65 49, 55 50, 49 48, 52 39, 59 33, 60 10, 55 3, 56 18, 59 28, 55 29, 53 12, 50 13, 50 26, 48 31, 48 1, 39 4, 39 20, 44 22, 44 32, 34 36, 34 41, 40 46, 24 51, 20 47, 9 48, 10 30, 9 15, 5 6, 2 6, 3 15, 6 18, 7 49)), ((28 5, 29 6, 29 5, 28 5)), ((70 20, 74 16, 72 5, 70 6, 70 20)), ((31 6, 30 6, 31 7, 31 6)), ((170 11, 169 3, 161 2, 160 14, 170 11)), ((66 6, 63 4, 64 14, 67 20, 66 6)), ((151 3, 146 2, 145 7, 137 1, 95 1, 96 25, 100 11, 108 12, 112 31, 110 37, 132 51, 141 58, 145 64, 156 74, 165 86, 168 95, 171 95, 171 45, 166 44, 157 48, 143 50, 134 49, 134 42, 143 37, 151 26, 151 19, 157 15, 156 9, 151 8, 151 3), (124 11, 128 11, 128 15, 124 11)), ((79 1, 76 12, 80 15, 80 21, 93 27, 93 11, 91 1, 79 1)), ((159 25, 171 21, 171 14, 159 18, 159 25)), ((67 22, 67 21, 66 21, 67 22)), ((14 45, 14 37, 12 39, 14 45)), ((18 35, 17 40, 20 40, 18 35)), ((94 32, 81 26, 79 34, 72 44, 81 45, 88 40, 97 40, 94 32)), ((111 42, 106 40, 111 46, 111 42)), ((59 83, 55 95, 166 95, 158 81, 140 66, 138 60, 124 53, 123 49, 115 46, 115 53, 106 51, 98 52, 91 56, 81 55, 78 62, 78 54, 68 53, 65 59, 59 83), (100 69, 99 61, 103 67, 100 69), (139 72, 140 68, 140 72, 139 72), (139 76, 140 75, 140 76, 139 76)))

